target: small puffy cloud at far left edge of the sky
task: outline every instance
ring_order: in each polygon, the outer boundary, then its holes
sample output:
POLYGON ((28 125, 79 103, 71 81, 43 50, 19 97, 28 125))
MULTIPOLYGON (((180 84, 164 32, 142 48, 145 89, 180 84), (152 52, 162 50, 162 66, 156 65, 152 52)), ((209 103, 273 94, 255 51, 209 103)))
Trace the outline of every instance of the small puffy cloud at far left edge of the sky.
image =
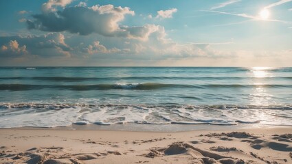
POLYGON ((16 40, 10 40, 7 44, 2 45, 0 49, 0 55, 5 55, 5 57, 14 57, 26 53, 26 46, 19 46, 16 40))

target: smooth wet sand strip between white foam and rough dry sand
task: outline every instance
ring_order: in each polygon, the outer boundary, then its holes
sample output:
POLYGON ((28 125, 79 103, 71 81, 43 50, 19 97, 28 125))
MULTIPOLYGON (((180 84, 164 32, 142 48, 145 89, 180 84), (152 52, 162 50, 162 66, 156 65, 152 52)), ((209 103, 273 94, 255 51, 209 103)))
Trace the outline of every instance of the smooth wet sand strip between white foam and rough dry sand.
POLYGON ((257 128, 291 128, 290 125, 265 125, 265 124, 237 124, 237 125, 214 125, 214 124, 71 124, 69 126, 41 127, 23 126, 12 128, 16 130, 48 130, 48 131, 128 131, 128 132, 149 132, 149 133, 181 133, 192 131, 238 131, 257 128))

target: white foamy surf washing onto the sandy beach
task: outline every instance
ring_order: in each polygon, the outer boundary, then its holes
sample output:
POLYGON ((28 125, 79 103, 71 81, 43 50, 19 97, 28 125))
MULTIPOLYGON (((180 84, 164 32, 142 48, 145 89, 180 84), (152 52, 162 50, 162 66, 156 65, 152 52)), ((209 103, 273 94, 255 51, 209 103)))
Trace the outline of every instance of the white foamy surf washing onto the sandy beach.
POLYGON ((126 123, 223 126, 236 124, 292 125, 291 111, 292 105, 118 105, 0 102, 0 128, 126 123), (258 115, 261 115, 260 120, 258 115), (271 122, 271 120, 273 121, 271 122))

